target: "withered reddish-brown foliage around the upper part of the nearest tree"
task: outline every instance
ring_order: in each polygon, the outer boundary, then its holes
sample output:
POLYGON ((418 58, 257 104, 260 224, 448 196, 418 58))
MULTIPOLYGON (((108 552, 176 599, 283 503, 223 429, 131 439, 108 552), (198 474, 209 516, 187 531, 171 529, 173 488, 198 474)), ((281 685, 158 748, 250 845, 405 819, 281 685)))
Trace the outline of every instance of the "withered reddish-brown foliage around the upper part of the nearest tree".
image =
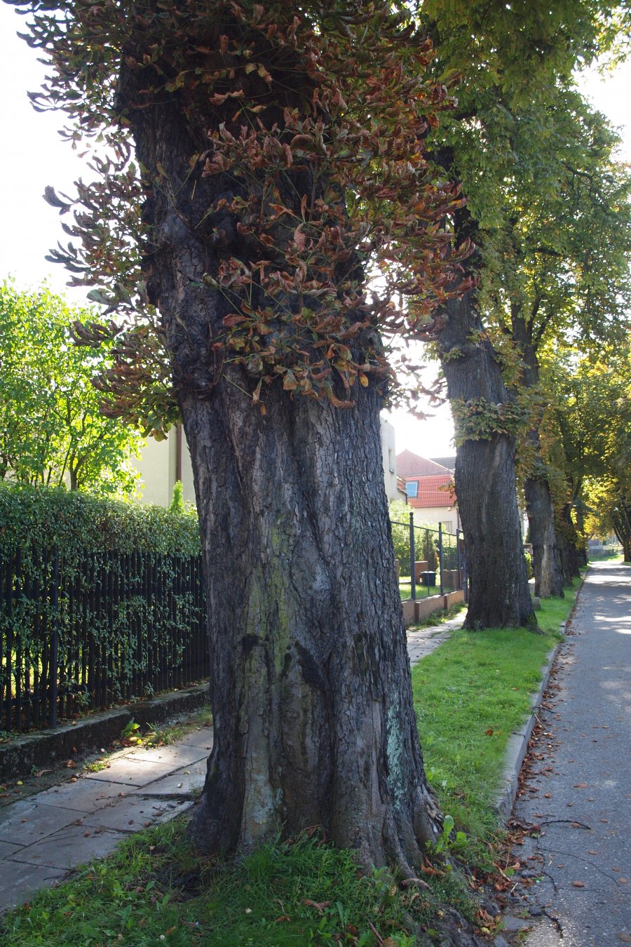
MULTIPOLYGON (((172 382, 202 391, 228 365, 245 368, 262 411, 270 384, 347 405, 355 384, 389 374, 375 329, 413 338, 464 290, 466 243, 445 259, 445 221, 462 201, 425 153, 429 128, 453 107, 450 83, 426 80, 432 53, 404 5, 313 3, 294 15, 246 0, 135 12, 9 2, 31 11, 27 42, 53 66, 36 108, 64 111, 73 143, 107 146, 93 160, 96 183, 47 198, 73 211, 63 224, 72 242, 50 259, 95 286, 95 301, 134 313, 108 329, 118 336, 112 414, 161 436, 178 414, 172 382), (184 116, 182 167, 131 160, 130 125, 156 101, 184 116), (310 196, 296 205, 306 174, 310 196), (212 179, 225 188, 207 200, 212 179), (167 337, 153 309, 160 246, 143 225, 165 205, 219 259, 203 286, 220 295, 221 329, 203 370, 177 380, 165 357, 177 332, 167 337), (369 294, 377 266, 383 278, 369 294), (394 305, 401 296, 414 300, 410 312, 394 305)), ((77 331, 86 344, 104 335, 77 331)))

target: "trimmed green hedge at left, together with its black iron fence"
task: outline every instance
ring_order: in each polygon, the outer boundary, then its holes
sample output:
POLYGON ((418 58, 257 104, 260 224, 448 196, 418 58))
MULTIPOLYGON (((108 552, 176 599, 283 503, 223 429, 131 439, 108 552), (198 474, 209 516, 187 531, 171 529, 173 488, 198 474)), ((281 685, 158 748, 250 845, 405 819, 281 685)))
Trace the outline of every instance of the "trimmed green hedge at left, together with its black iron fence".
POLYGON ((198 680, 204 629, 195 510, 0 484, 3 729, 198 680))

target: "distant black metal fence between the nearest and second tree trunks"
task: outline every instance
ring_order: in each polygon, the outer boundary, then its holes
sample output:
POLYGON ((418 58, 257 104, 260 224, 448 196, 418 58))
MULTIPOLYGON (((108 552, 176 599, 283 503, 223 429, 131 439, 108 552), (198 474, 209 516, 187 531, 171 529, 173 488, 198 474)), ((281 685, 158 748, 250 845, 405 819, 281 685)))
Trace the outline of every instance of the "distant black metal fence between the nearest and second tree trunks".
POLYGON ((464 589, 466 595, 466 563, 460 529, 449 533, 440 523, 438 529, 415 526, 413 513, 408 523, 393 520, 392 527, 402 599, 444 595, 455 589, 464 589))

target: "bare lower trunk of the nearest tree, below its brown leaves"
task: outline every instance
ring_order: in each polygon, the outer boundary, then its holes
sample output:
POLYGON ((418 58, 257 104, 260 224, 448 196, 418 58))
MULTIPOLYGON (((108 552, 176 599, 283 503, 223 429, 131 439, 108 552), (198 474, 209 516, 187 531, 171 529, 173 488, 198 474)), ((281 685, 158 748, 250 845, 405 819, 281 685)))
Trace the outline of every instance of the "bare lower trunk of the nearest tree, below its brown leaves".
POLYGON ((322 825, 410 873, 432 833, 379 446, 379 403, 234 385, 184 398, 215 743, 194 834, 248 849, 322 825))

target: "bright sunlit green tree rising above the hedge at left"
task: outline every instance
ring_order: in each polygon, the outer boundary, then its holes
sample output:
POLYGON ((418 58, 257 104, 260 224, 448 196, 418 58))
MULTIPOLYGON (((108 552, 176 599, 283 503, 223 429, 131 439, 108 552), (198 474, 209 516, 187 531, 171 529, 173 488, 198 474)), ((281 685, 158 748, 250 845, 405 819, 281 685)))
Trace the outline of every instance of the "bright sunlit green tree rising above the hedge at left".
POLYGON ((82 315, 47 289, 0 285, 0 477, 71 490, 125 494, 141 438, 99 412, 91 384, 104 351, 77 348, 71 323, 82 315))

